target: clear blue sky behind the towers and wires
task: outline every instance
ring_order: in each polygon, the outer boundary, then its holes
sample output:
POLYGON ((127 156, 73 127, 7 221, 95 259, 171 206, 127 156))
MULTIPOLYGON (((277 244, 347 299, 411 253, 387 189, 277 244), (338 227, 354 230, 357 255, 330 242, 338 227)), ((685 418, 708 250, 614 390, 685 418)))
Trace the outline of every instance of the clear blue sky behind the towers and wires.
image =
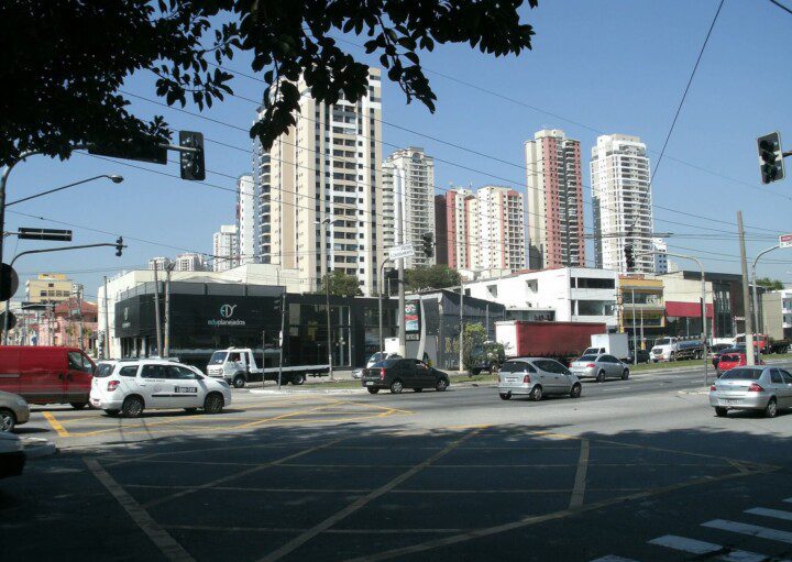
MULTIPOLYGON (((781 1, 792 8, 792 0, 781 1)), ((591 233, 588 159, 596 137, 637 135, 648 146, 652 169, 658 166, 718 2, 541 0, 537 9, 526 5, 522 21, 536 35, 534 48, 518 57, 495 58, 469 45, 422 54, 438 96, 436 113, 419 102, 407 104, 400 89, 383 79, 383 157, 397 147, 422 146, 436 158, 440 190, 470 184, 525 191, 525 141, 542 128, 562 129, 581 141, 585 232, 591 233)), ((338 36, 352 55, 376 65, 355 46, 363 37, 338 36)), ((670 252, 696 255, 707 271, 739 273, 738 210, 749 260, 774 245, 779 234, 792 232, 792 177, 762 186, 756 150, 757 136, 780 131, 792 151, 790 59, 792 14, 769 0, 725 1, 652 185, 656 232, 673 234, 670 252)), ((252 75, 249 62, 242 55, 227 67, 252 75)), ((123 90, 154 100, 152 85, 144 71, 131 76, 123 90)), ((14 205, 7 210, 7 230, 70 228, 75 244, 123 235, 129 247, 121 257, 110 247, 23 256, 15 266, 21 279, 15 299, 23 299, 24 280, 38 272, 65 273, 96 300, 103 275, 144 268, 153 256, 211 253, 212 233, 235 220, 235 178, 252 169, 246 130, 265 85, 238 76, 232 88, 238 97, 200 113, 211 121, 130 97, 140 117, 162 114, 174 130, 204 133, 205 184, 182 180, 176 164, 81 154, 19 164, 8 201, 100 174, 125 180, 100 179, 14 205)), ((198 113, 193 106, 185 109, 198 113)), ((792 176, 792 158, 787 166, 792 176)), ((52 243, 9 238, 6 244, 8 263, 18 252, 52 243)), ((587 256, 593 261, 591 243, 587 256)), ((757 273, 792 283, 792 250, 763 257, 757 273)))

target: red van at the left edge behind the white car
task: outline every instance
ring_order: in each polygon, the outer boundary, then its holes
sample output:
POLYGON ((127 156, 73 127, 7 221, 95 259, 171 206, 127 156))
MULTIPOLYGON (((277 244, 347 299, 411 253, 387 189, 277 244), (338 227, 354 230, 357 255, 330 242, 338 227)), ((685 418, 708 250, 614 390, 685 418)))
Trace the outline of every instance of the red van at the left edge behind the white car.
POLYGON ((94 362, 77 348, 0 345, 0 390, 29 404, 88 404, 94 362))

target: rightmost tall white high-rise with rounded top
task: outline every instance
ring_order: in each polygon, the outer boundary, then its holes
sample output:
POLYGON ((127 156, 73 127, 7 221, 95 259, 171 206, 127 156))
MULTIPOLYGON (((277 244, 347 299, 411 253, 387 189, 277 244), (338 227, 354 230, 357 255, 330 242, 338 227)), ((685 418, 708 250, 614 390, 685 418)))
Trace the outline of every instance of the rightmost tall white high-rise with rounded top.
POLYGON ((591 159, 595 266, 622 273, 653 273, 651 186, 646 144, 638 136, 597 137, 591 159), (635 267, 627 271, 625 245, 635 267))

